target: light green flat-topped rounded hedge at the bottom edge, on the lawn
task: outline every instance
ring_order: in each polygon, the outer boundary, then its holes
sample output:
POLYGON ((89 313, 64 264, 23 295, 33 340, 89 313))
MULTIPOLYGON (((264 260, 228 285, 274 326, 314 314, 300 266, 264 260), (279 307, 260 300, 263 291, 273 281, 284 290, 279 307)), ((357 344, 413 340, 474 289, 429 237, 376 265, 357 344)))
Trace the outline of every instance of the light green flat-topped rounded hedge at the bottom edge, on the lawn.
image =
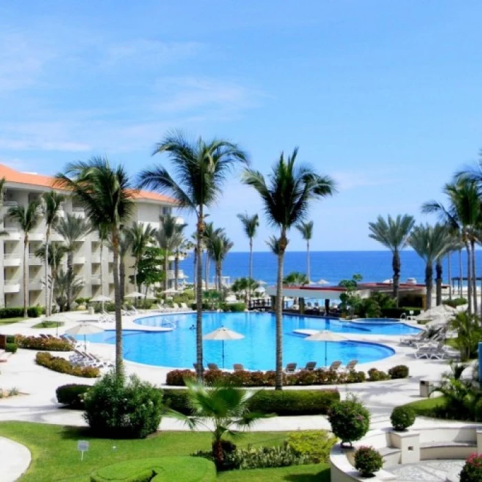
POLYGON ((96 470, 91 482, 211 482, 216 481, 213 462, 201 457, 158 457, 114 463, 96 470))

